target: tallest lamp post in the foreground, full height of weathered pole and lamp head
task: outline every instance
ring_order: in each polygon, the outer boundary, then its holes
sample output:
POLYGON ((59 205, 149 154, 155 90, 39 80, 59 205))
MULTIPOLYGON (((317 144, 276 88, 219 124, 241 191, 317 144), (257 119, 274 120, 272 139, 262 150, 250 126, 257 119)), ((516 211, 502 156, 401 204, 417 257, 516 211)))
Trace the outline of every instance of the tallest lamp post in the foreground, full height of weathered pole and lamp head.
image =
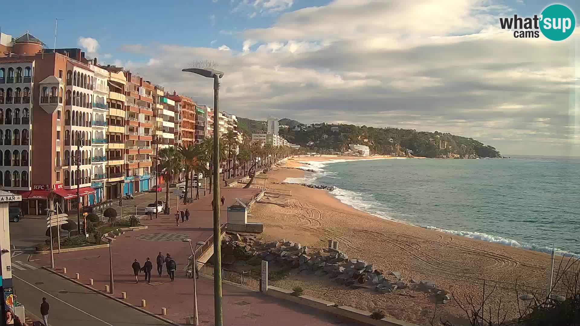
POLYGON ((223 72, 213 69, 186 68, 182 71, 213 78, 213 300, 215 326, 223 326, 222 318, 222 237, 219 220, 219 85, 223 72))

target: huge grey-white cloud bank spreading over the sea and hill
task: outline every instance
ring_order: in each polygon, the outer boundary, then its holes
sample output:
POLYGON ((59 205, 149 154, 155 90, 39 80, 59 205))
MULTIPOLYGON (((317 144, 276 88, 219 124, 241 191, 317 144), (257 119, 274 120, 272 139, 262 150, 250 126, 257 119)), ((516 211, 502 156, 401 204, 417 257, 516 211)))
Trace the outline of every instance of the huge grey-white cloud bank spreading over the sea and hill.
POLYGON ((490 0, 335 0, 243 32, 238 50, 122 48, 158 59, 139 73, 198 103, 212 102, 211 86, 180 70, 215 60, 223 107, 241 117, 437 130, 504 154, 580 155, 571 51, 580 34, 514 39, 496 26, 511 10, 490 0))

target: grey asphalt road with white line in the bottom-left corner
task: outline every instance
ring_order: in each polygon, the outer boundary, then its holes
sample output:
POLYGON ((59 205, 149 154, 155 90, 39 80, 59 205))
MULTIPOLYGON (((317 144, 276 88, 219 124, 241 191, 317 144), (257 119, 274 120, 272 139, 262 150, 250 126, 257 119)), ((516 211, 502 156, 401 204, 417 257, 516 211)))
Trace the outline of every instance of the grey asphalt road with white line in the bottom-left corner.
POLYGON ((12 274, 19 302, 40 317, 40 303, 44 296, 50 304, 50 326, 169 325, 49 271, 32 269, 36 267, 26 260, 19 266, 22 269, 15 269, 12 274))

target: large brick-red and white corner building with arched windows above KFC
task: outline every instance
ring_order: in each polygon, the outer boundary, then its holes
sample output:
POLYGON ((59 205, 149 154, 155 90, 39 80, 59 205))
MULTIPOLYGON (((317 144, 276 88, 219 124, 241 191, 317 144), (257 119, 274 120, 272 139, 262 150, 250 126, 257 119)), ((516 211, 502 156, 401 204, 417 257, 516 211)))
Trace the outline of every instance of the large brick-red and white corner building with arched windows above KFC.
POLYGON ((95 193, 88 60, 80 49, 43 49, 28 32, 0 40, 8 53, 0 57, 2 189, 23 196, 25 214, 46 215, 51 190, 64 211, 88 204, 95 193))

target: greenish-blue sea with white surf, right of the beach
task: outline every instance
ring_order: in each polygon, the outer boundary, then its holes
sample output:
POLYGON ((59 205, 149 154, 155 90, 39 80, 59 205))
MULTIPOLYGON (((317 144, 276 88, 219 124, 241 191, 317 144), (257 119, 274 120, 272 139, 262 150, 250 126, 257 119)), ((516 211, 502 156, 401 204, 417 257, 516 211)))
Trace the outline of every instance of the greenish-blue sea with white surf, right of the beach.
POLYGON ((580 157, 309 162, 286 182, 335 186, 379 218, 534 251, 580 257, 580 157))

